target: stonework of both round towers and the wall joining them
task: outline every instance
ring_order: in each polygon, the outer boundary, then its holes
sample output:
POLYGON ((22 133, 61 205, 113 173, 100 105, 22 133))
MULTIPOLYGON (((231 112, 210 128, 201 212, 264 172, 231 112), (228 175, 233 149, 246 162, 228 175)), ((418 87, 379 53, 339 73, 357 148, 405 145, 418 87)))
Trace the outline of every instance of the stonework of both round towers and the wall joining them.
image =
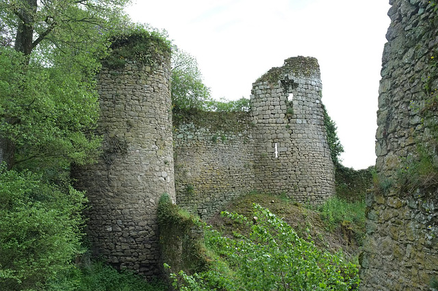
POLYGON ((165 59, 152 68, 131 61, 123 70, 102 69, 103 154, 74 174, 90 201, 94 255, 146 277, 160 269, 162 193, 203 218, 253 190, 311 204, 335 193, 316 59, 287 59, 261 77, 250 113, 204 113, 178 124, 173 139, 169 66, 165 59))

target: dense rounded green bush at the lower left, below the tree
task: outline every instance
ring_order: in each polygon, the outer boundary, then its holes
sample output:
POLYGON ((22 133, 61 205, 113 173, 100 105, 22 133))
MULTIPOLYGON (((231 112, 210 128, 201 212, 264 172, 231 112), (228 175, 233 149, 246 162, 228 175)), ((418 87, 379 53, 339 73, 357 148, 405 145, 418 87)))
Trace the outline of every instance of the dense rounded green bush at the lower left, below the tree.
POLYGON ((83 193, 0 167, 0 290, 30 290, 80 253, 83 193))

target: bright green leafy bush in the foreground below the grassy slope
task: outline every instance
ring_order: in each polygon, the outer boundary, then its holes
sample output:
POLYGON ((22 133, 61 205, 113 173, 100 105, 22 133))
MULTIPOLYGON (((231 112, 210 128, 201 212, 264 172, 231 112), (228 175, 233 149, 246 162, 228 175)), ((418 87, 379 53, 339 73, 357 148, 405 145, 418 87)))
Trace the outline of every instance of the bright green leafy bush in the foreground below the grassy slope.
POLYGON ((255 204, 253 224, 240 214, 224 215, 250 225, 248 236, 220 236, 214 230, 205 234, 207 247, 216 251, 216 266, 209 271, 173 277, 179 290, 351 290, 359 284, 355 264, 342 255, 318 250, 298 237, 287 223, 266 208, 255 204))

